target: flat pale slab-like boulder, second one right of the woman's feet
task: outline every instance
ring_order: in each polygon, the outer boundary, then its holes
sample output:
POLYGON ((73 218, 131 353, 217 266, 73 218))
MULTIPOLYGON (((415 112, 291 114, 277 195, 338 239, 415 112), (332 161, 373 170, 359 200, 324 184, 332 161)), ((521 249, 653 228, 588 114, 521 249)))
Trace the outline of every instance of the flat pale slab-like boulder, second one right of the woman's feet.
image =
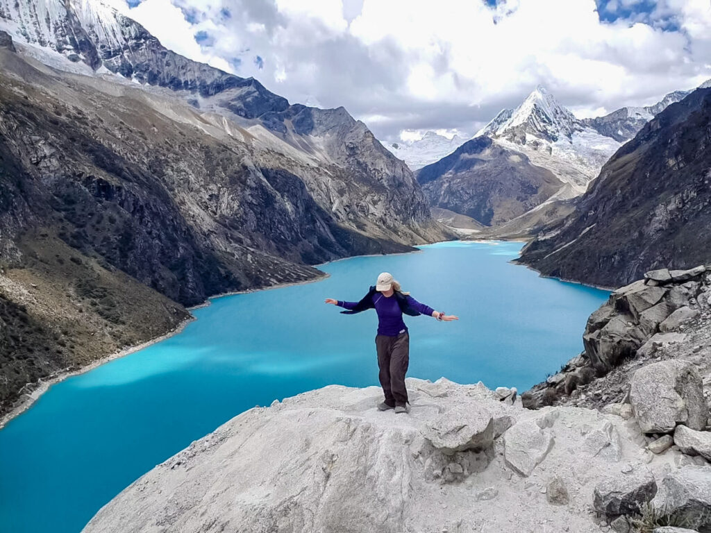
POLYGON ((553 447, 550 426, 555 421, 555 411, 536 419, 518 421, 503 435, 503 456, 513 470, 529 476, 553 447))

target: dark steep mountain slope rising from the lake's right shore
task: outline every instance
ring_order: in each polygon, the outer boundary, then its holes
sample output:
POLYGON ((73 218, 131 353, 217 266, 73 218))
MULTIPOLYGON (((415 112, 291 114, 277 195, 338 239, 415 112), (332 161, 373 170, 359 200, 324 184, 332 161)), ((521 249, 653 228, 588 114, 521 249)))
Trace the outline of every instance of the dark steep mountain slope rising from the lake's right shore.
POLYGON ((711 89, 670 105, 604 166, 576 210, 520 262, 542 274, 619 286, 711 260, 711 89))

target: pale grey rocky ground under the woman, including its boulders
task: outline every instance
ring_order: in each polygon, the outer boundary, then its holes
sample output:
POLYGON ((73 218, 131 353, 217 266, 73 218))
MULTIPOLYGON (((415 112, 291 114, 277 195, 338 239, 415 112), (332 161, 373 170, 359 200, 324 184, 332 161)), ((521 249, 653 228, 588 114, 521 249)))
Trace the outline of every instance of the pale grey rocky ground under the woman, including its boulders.
POLYGON ((250 409, 139 478, 84 532, 630 532, 650 508, 664 510, 660 527, 711 532, 711 466, 695 434, 680 437, 699 455, 656 454, 634 416, 530 410, 505 389, 444 378, 407 387, 409 414, 378 411, 378 387, 338 385, 250 409))

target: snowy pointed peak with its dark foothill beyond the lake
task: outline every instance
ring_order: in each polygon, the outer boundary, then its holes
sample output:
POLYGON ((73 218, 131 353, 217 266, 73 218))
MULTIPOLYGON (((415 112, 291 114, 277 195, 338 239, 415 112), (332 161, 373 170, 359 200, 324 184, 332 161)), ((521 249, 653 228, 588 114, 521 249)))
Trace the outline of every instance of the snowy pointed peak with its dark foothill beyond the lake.
POLYGON ((532 235, 569 213, 567 204, 587 190, 610 156, 654 114, 688 94, 676 91, 653 106, 580 120, 539 85, 474 139, 416 171, 417 179, 433 207, 494 226, 497 235, 532 235), (542 216, 546 212, 551 218, 542 216))

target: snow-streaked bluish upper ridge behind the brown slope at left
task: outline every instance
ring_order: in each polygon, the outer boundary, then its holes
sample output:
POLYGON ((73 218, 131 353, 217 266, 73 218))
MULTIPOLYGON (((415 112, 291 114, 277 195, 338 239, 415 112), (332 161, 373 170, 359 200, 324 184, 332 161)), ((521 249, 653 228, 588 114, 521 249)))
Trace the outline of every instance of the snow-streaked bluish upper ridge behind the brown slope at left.
MULTIPOLYGON (((137 82, 158 94, 164 94, 160 90, 164 87, 201 111, 220 114, 247 129, 257 147, 301 164, 329 166, 330 175, 314 176, 306 186, 321 208, 334 210, 355 225, 360 221, 354 212, 371 219, 387 212, 394 223, 384 224, 380 218, 373 220, 373 227, 385 225, 402 233, 408 244, 442 238, 407 166, 342 107, 290 105, 257 80, 183 58, 99 0, 0 0, 2 28, 19 41, 16 44, 24 44, 23 53, 45 63, 65 70, 82 65, 82 72, 97 76, 113 73, 109 77, 114 81, 137 82), (375 195, 365 195, 357 206, 344 205, 328 185, 333 176, 368 183, 375 195), (383 194, 385 190, 397 192, 383 194)), ((235 130, 237 139, 245 140, 245 134, 235 130)))

